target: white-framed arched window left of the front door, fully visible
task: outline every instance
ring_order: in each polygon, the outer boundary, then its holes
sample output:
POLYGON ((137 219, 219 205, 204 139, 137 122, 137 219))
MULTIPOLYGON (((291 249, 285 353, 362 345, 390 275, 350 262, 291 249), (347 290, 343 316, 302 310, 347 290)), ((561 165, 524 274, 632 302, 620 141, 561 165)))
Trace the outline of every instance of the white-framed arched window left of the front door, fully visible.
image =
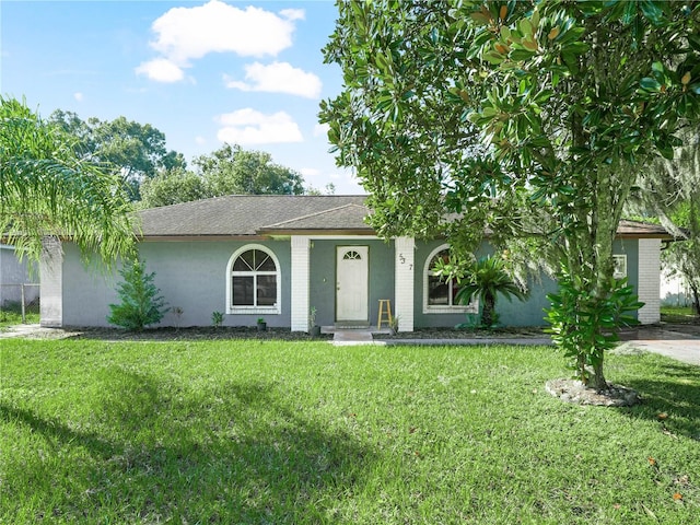
POLYGON ((229 314, 279 314, 280 265, 261 245, 236 250, 226 269, 229 314))

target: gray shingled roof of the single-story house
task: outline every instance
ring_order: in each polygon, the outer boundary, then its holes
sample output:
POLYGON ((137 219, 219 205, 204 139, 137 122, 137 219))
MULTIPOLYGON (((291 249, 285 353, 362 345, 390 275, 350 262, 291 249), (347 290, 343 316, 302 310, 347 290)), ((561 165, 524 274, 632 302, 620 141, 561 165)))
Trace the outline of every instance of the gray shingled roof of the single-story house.
MULTIPOLYGON (((363 195, 230 195, 139 212, 144 237, 324 232, 372 235, 363 195)), ((663 226, 621 221, 622 237, 670 238, 663 226)))

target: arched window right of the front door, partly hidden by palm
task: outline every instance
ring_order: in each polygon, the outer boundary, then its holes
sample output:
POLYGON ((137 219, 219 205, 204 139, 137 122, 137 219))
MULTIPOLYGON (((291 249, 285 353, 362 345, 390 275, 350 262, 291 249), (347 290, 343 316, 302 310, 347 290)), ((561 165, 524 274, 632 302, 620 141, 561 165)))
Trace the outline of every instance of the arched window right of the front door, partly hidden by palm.
POLYGON ((450 258, 450 246, 446 244, 434 249, 425 260, 423 270, 423 313, 425 314, 456 314, 477 313, 479 305, 471 300, 468 305, 458 304, 455 295, 459 287, 456 279, 445 279, 438 276, 433 268, 439 260, 445 262, 450 258))

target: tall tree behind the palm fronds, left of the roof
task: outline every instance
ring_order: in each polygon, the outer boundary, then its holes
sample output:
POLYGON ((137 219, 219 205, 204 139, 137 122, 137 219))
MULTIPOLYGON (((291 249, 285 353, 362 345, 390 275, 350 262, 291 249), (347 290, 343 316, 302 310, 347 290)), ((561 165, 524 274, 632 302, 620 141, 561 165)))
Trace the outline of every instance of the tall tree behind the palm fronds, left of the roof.
POLYGON ((118 117, 114 120, 82 120, 71 112, 54 112, 49 120, 75 137, 75 151, 94 162, 119 171, 130 187, 131 200, 139 200, 139 186, 161 171, 185 168, 182 153, 168 151, 165 135, 150 124, 118 117))

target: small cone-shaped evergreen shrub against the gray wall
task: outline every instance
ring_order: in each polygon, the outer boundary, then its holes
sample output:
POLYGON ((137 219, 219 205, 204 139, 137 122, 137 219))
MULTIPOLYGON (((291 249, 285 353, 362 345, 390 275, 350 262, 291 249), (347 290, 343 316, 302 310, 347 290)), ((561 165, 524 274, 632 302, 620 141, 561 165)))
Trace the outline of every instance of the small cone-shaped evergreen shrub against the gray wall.
POLYGON ((107 320, 130 331, 140 331, 145 326, 160 322, 168 308, 159 295, 161 290, 153 284, 155 272, 145 272, 145 261, 136 259, 119 270, 124 282, 117 285, 121 304, 110 304, 107 320))

